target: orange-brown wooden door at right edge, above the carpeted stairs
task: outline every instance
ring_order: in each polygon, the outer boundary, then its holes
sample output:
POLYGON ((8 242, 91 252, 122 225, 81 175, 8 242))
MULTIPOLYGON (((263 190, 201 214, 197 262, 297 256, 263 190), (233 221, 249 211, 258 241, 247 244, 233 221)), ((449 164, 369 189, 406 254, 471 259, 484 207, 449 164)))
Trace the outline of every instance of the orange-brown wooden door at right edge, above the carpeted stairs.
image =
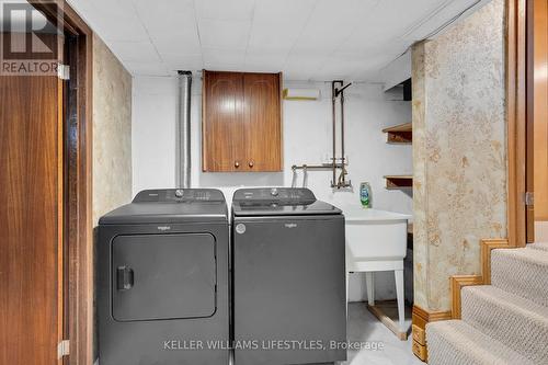
MULTIPOLYGON (((546 0, 535 0, 532 3, 533 9, 529 9, 529 14, 533 16, 533 44, 529 43, 529 47, 532 45, 529 55, 532 55, 533 64, 529 64, 529 72, 532 71, 533 75, 529 77, 529 82, 533 87, 530 99, 533 105, 532 107, 529 105, 529 113, 533 121, 529 119, 528 126, 529 153, 527 158, 528 162, 533 163, 528 163, 527 176, 529 182, 533 180, 533 186, 529 183, 528 187, 529 191, 533 187, 535 203, 534 213, 529 209, 528 223, 530 215, 534 215, 534 221, 540 228, 543 225, 548 225, 548 4, 546 0)), ((528 226, 530 227, 530 224, 528 226)), ((539 229, 535 235, 532 235, 530 230, 529 228, 527 241, 533 241, 535 236, 538 236, 537 240, 548 239, 541 235, 545 229, 539 229)))

